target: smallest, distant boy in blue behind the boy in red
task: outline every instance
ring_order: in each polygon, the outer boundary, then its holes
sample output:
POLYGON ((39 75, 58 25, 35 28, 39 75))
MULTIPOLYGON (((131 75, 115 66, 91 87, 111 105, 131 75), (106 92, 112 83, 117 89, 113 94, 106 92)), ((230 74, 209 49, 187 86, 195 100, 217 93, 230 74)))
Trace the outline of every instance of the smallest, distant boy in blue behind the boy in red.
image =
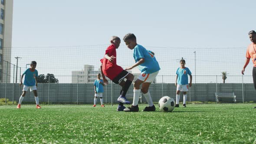
POLYGON ((100 102, 101 102, 101 104, 102 104, 101 107, 105 107, 105 106, 103 105, 103 98, 102 98, 102 94, 103 94, 103 92, 104 92, 103 86, 105 86, 105 84, 103 83, 103 80, 100 79, 100 77, 101 77, 101 74, 100 74, 100 73, 97 75, 97 77, 98 77, 98 79, 95 79, 94 84, 93 84, 93 85, 94 85, 94 92, 95 92, 95 95, 94 95, 94 105, 93 105, 93 107, 96 106, 97 97, 100 98, 100 102))

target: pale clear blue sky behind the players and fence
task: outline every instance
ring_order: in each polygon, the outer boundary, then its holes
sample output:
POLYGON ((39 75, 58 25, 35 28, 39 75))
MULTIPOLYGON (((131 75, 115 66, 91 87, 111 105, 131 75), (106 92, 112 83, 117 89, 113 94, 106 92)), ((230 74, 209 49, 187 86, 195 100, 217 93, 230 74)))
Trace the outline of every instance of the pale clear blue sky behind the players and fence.
MULTIPOLYGON (((197 51, 197 75, 219 75, 222 71, 240 75, 250 43, 247 33, 256 30, 255 6, 255 0, 14 0, 12 46, 25 49, 13 49, 12 62, 16 62, 14 56, 21 56, 21 67, 34 59, 40 63, 39 73, 71 75, 71 70, 82 70, 84 64, 98 65, 95 61, 102 58, 105 49, 99 45, 107 45, 110 36, 122 39, 126 33, 135 33, 139 44, 156 53, 161 75, 175 75, 179 66, 175 59, 181 57, 187 59, 187 66, 194 74, 194 51, 197 51), (89 53, 90 45, 99 46, 99 56, 89 53), (59 49, 51 46, 66 46, 69 50, 60 52, 61 56, 54 52, 47 54, 49 49, 59 49), (85 46, 89 50, 72 51, 72 46, 85 46), (28 51, 34 51, 36 57, 28 51), (42 51, 46 54, 39 55, 42 51), (69 57, 71 52, 73 57, 69 57), (52 57, 62 63, 49 65, 54 61, 50 60, 52 57), (227 59, 231 63, 226 63, 227 59), (55 67, 60 68, 58 72, 51 71, 55 67), (63 70, 64 67, 72 69, 63 70)), ((132 51, 125 49, 123 42, 120 48, 118 56, 125 53, 129 58, 119 57, 118 64, 124 67, 133 64, 132 51)), ((246 75, 251 75, 251 62, 248 67, 246 75)))

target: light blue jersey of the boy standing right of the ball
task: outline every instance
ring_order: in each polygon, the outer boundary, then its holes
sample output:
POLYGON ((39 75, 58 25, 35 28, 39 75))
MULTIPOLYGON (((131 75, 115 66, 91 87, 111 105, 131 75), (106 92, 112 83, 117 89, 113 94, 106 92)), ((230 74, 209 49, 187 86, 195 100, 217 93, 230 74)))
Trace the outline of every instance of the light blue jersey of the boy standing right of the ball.
POLYGON ((187 75, 191 75, 191 72, 186 67, 184 69, 179 67, 177 69, 176 75, 178 75, 178 78, 177 78, 178 85, 187 85, 188 84, 188 76, 187 75))

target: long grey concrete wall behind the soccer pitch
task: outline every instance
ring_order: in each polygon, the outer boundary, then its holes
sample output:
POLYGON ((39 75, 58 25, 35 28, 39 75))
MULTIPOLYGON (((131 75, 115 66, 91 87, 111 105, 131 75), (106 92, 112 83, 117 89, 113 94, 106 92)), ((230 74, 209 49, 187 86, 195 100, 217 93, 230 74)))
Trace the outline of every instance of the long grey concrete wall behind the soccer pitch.
MULTIPOLYGON (((5 98, 5 95, 9 101, 19 101, 19 97, 22 93, 22 88, 18 84, 6 84, 0 83, 0 98, 5 98)), ((104 88, 103 93, 104 103, 113 102, 117 103, 116 99, 119 96, 121 87, 116 84, 108 84, 104 88)), ((237 102, 244 101, 256 101, 255 89, 253 84, 214 84, 203 83, 192 85, 190 92, 187 92, 187 101, 216 101, 215 92, 234 92, 237 102)), ((176 100, 176 86, 174 84, 151 84, 149 91, 152 96, 152 100, 157 102, 162 96, 168 95, 176 100)), ((37 88, 40 103, 93 103, 94 88, 93 84, 38 84, 37 88)), ((133 93, 132 86, 129 88, 128 93, 133 93)), ((232 101, 232 98, 220 98, 220 101, 232 101)), ((33 92, 27 92, 24 98, 25 102, 35 102, 33 92)), ((131 99, 132 101, 132 99, 131 99)), ((146 102, 144 97, 143 102, 146 102)), ((180 101, 183 101, 183 95, 181 93, 180 101)), ((99 103, 99 100, 97 101, 99 103)))

